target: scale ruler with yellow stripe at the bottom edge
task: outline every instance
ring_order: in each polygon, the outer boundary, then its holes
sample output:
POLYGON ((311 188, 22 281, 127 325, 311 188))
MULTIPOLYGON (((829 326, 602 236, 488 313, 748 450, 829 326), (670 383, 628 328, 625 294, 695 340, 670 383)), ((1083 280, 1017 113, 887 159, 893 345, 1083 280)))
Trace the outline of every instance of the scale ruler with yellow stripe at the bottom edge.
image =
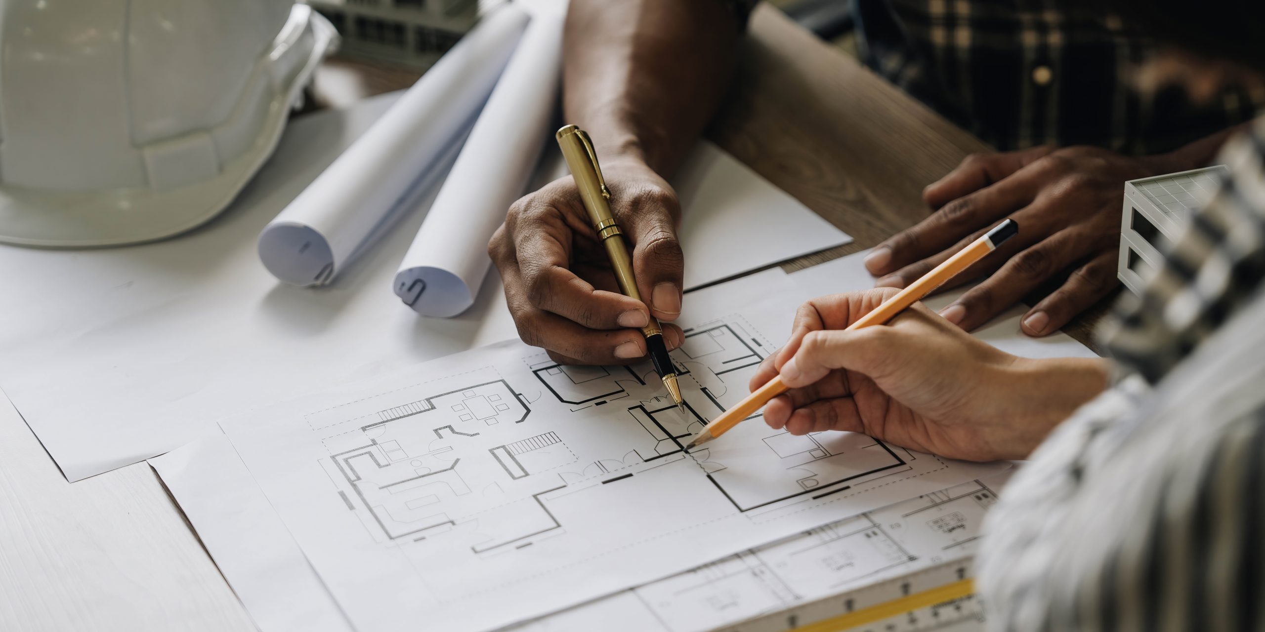
POLYGON ((730 632, 983 629, 972 560, 941 564, 726 628, 730 632))

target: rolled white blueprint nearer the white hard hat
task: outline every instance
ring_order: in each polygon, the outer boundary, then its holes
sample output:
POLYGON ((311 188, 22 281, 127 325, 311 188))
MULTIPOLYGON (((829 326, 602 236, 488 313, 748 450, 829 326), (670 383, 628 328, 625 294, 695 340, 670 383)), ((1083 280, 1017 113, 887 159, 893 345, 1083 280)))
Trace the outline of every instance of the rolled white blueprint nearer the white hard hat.
POLYGON ((278 279, 323 286, 393 216, 414 183, 469 130, 529 21, 510 4, 479 20, 259 235, 278 279))

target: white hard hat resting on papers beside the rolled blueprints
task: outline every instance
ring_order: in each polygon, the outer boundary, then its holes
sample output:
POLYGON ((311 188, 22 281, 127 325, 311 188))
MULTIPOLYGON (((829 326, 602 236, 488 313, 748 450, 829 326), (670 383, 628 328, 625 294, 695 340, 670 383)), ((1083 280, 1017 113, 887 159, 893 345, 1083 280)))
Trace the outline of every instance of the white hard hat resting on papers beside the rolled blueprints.
POLYGON ((0 241, 129 244, 210 220, 336 42, 292 0, 0 0, 0 241))

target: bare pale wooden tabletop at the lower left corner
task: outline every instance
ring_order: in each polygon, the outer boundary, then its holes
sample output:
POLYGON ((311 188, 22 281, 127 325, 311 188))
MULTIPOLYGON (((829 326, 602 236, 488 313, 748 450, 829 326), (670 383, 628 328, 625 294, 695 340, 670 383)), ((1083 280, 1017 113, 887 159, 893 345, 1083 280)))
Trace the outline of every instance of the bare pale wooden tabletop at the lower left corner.
POLYGON ((0 397, 0 629, 256 628, 148 464, 67 483, 0 397))

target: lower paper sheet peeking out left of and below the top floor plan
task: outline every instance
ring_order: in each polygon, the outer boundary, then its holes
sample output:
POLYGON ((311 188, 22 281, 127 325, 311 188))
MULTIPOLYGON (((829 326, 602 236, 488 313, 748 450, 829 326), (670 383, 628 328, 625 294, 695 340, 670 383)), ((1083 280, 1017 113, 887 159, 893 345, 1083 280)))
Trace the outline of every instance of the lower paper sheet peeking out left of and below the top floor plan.
MULTIPOLYGON (((151 459, 151 464, 181 507, 197 511, 190 521, 261 631, 353 629, 263 492, 253 479, 239 479, 245 465, 228 437, 188 444, 151 459), (218 473, 228 473, 223 478, 229 482, 201 483, 218 480, 218 473), (250 528, 242 528, 243 523, 250 528), (276 581, 266 581, 269 578, 276 581), (311 612, 336 616, 312 627, 311 612)), ((983 514, 1011 471, 844 518, 511 629, 716 629, 935 564, 969 559, 975 554, 983 514)))

